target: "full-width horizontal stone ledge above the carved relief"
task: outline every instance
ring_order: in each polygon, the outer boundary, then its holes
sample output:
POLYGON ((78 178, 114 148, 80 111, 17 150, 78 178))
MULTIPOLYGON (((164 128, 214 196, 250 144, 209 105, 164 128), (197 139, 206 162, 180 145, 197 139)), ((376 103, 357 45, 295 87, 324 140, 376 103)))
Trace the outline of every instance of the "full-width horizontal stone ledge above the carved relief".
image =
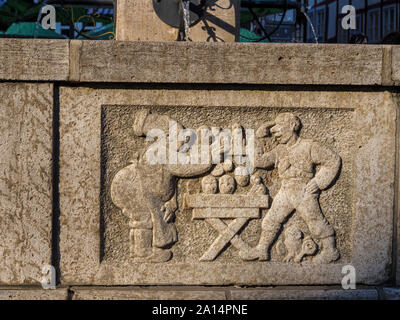
POLYGON ((400 85, 400 48, 390 48, 0 39, 0 80, 400 85))

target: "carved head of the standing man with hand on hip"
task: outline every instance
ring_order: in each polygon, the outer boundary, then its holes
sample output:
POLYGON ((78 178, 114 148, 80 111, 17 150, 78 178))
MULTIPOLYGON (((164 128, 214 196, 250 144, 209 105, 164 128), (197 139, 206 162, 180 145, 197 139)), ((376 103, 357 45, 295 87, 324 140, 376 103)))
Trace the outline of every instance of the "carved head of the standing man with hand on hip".
POLYGON ((285 112, 276 117, 271 133, 280 144, 286 144, 294 135, 298 135, 300 127, 300 119, 293 113, 285 112))

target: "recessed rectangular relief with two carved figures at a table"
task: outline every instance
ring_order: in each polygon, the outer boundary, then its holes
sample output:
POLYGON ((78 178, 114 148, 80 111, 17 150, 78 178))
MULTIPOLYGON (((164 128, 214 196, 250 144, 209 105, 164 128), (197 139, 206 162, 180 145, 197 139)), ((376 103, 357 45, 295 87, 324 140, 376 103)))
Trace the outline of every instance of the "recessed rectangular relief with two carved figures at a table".
POLYGON ((101 143, 103 261, 327 264, 350 259, 350 109, 106 105, 101 143), (199 145, 207 139, 203 144, 210 150, 219 148, 220 163, 211 156, 174 163, 160 158, 161 145, 155 156, 165 161, 151 163, 149 152, 160 142, 154 130, 166 133, 165 150, 170 150, 175 120, 178 132, 193 130, 174 150, 189 154, 190 135, 197 133, 199 145), (226 128, 232 140, 217 145, 226 128), (209 135, 204 138, 200 130, 209 135), (254 132, 253 140, 248 132, 254 132), (250 144, 254 158, 248 166, 250 144), (238 145, 241 152, 235 152, 238 145))

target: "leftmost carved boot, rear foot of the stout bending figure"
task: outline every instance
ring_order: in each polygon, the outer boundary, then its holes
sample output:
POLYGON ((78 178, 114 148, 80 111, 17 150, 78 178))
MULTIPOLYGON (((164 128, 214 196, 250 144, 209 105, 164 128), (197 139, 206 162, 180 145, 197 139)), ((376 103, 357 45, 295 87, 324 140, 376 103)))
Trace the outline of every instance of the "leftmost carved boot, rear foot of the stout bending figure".
POLYGON ((151 229, 131 229, 130 234, 131 255, 137 262, 147 261, 153 253, 152 239, 153 230, 151 229))

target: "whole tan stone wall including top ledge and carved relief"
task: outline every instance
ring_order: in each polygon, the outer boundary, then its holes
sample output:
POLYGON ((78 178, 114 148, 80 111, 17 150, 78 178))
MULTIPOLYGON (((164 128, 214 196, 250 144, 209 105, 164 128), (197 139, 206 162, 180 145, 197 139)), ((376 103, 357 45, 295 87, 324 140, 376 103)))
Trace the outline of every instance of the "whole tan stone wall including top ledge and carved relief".
POLYGON ((398 298, 399 48, 0 48, 1 299, 398 298), (149 165, 172 120, 253 130, 256 168, 149 165))

